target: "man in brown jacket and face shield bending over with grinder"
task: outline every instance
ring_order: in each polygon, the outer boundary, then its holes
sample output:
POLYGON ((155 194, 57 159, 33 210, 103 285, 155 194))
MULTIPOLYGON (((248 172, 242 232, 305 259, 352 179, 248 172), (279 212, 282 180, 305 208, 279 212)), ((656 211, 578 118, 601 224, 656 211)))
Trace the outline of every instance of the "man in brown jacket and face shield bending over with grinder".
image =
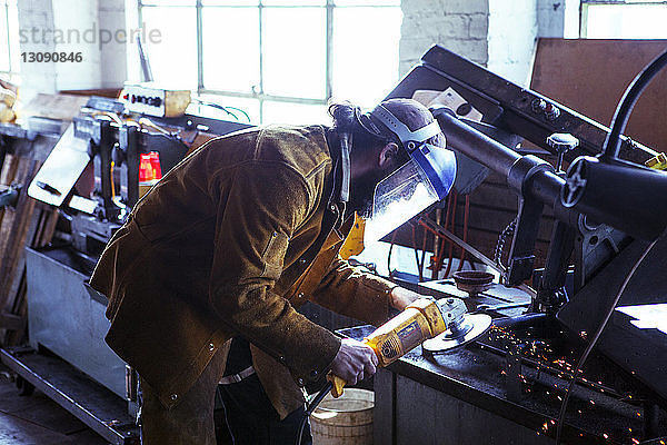
POLYGON ((151 189, 102 254, 90 284, 109 297, 107 343, 140 375, 145 444, 215 444, 219 383, 236 444, 293 443, 303 385, 328 372, 355 384, 377 365, 369 347, 295 308, 313 300, 379 325, 418 298, 338 250, 354 210, 379 202, 379 182, 388 196, 417 195, 422 184, 397 175, 416 156, 429 190, 439 184, 428 202, 446 195, 451 152, 412 100, 367 115, 330 110, 332 128, 253 128, 208 142, 151 189), (426 142, 419 150, 412 136, 426 142), (439 171, 424 164, 436 155, 439 171))

